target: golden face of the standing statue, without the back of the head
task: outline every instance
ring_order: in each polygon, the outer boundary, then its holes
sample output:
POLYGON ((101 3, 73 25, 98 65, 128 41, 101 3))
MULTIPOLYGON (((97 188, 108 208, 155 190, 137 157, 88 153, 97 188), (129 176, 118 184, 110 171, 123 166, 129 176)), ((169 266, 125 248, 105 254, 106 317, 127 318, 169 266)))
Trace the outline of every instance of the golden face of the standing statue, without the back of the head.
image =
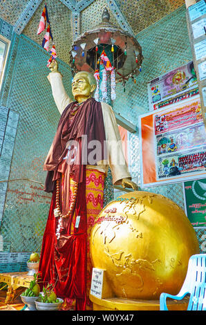
POLYGON ((84 102, 84 100, 91 97, 94 91, 93 86, 94 85, 89 83, 86 73, 77 73, 72 82, 72 93, 75 100, 77 100, 77 102, 84 102))

